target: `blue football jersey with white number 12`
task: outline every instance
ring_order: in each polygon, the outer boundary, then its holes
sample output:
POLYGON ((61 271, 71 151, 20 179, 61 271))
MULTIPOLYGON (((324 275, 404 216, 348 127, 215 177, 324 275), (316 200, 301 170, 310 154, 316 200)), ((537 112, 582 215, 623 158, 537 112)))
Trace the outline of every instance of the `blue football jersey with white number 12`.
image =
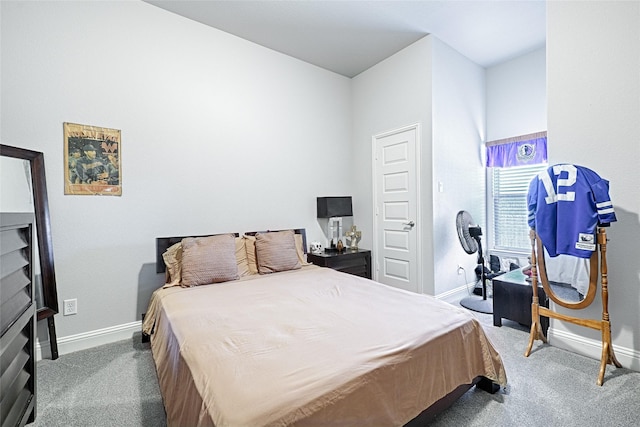
POLYGON ((596 249, 596 228, 617 221, 609 181, 582 166, 558 164, 529 184, 529 226, 549 256, 589 258, 596 249))

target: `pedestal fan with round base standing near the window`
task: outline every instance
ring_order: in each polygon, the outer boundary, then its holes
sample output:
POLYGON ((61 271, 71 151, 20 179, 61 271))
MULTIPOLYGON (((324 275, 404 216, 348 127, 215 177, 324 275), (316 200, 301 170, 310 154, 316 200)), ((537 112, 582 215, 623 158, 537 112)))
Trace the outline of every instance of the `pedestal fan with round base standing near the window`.
POLYGON ((480 283, 482 284, 481 296, 469 296, 460 301, 460 305, 469 310, 478 311, 480 313, 493 313, 493 300, 487 298, 487 282, 484 268, 484 257, 482 256, 482 229, 477 225, 471 214, 467 211, 460 211, 456 216, 456 228, 458 229, 458 238, 464 251, 468 254, 478 253, 478 267, 480 283))

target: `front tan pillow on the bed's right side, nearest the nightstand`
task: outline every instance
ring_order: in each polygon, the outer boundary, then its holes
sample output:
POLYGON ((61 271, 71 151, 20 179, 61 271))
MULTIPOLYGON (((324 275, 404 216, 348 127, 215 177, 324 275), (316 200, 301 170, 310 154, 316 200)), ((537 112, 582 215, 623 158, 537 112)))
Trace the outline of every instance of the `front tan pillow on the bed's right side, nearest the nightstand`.
POLYGON ((256 234, 256 261, 260 274, 301 268, 293 231, 256 234))

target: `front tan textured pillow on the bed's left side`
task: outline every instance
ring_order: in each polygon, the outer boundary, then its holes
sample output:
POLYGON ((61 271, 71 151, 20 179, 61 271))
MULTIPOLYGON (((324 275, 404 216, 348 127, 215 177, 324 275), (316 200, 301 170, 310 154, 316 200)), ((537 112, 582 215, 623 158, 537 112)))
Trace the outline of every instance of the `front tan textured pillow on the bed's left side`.
POLYGON ((182 286, 227 282, 239 277, 233 234, 182 239, 182 286))

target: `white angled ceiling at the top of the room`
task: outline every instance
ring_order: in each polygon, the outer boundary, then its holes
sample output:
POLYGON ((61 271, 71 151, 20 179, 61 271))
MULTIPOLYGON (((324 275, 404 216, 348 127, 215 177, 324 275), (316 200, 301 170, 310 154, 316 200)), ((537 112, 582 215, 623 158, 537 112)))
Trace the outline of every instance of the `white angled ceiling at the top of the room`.
POLYGON ((485 68, 546 40, 544 0, 145 1, 347 77, 427 34, 485 68))

